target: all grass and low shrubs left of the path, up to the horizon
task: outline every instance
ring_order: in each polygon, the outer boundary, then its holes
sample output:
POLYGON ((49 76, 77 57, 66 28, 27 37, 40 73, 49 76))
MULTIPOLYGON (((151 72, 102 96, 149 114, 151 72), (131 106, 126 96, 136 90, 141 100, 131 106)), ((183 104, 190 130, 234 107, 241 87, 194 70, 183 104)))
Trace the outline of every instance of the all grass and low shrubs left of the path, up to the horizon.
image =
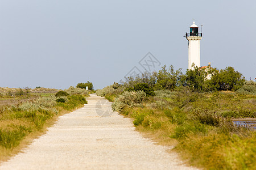
POLYGON ((47 89, 43 94, 27 91, 27 94, 26 89, 1 91, 0 162, 44 133, 58 116, 82 107, 88 96, 88 91, 75 87, 57 93, 52 90, 47 93, 47 89))

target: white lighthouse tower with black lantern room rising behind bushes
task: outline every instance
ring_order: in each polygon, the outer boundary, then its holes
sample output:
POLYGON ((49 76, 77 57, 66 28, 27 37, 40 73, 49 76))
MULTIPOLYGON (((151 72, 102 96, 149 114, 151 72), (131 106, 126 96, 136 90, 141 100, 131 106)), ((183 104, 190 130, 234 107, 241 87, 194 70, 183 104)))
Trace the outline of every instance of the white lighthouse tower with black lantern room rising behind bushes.
POLYGON ((199 29, 195 22, 190 26, 190 32, 186 32, 188 40, 188 69, 193 69, 192 64, 200 67, 200 40, 203 33, 199 33, 199 29))

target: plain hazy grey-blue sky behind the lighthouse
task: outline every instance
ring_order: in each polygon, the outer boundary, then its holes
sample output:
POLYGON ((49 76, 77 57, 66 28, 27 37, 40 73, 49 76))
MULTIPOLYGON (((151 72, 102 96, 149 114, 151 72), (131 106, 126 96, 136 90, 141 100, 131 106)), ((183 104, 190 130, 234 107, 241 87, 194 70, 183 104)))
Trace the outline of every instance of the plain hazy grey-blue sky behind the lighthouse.
MULTIPOLYGON (((94 89, 158 66, 188 69, 185 32, 203 25, 201 66, 256 77, 256 1, 0 0, 0 87, 94 89), (152 57, 154 56, 154 57, 152 57)), ((156 67, 157 69, 157 67, 156 67)))

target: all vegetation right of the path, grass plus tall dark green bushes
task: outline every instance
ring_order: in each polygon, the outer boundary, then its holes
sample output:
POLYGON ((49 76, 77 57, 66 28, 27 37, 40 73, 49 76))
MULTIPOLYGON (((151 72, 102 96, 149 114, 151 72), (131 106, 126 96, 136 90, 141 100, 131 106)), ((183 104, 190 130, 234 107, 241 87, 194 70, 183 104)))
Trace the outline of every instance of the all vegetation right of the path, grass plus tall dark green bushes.
POLYGON ((233 118, 256 118, 256 83, 232 67, 195 68, 183 75, 166 66, 97 90, 112 108, 160 145, 175 146, 188 164, 205 169, 255 169, 256 131, 233 118))

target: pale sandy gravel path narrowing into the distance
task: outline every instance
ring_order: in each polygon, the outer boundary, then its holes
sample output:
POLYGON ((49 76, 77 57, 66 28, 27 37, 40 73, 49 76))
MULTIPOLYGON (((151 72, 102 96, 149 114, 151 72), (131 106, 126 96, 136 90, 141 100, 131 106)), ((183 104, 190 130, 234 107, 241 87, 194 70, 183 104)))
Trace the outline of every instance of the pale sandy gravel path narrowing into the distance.
POLYGON ((103 97, 87 100, 0 169, 194 169, 143 138, 103 97))

